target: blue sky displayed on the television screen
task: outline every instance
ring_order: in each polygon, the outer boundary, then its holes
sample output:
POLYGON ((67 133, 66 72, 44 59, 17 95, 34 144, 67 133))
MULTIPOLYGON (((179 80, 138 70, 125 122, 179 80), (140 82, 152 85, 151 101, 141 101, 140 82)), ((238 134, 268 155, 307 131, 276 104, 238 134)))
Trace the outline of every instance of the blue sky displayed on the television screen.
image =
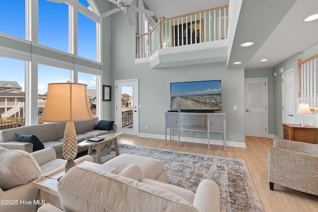
POLYGON ((170 84, 171 96, 189 96, 221 93, 221 81, 177 82, 170 84))

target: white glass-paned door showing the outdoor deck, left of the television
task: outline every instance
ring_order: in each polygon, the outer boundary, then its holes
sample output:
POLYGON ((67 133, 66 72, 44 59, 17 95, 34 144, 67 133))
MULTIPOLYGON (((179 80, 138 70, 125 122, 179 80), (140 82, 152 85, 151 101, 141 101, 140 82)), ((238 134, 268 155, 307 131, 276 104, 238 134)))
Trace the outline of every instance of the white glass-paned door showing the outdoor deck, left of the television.
POLYGON ((138 136, 138 79, 116 80, 116 132, 138 136))

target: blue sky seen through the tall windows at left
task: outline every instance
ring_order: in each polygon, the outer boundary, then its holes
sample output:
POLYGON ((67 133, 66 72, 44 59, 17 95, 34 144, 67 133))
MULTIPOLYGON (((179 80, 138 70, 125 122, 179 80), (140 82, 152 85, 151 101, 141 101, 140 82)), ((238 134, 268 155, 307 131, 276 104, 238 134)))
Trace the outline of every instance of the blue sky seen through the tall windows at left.
MULTIPOLYGON (((79 0, 88 6, 86 0, 79 0)), ((78 55, 96 60, 95 22, 79 14, 78 55)), ((39 44, 68 52, 68 5, 39 0, 39 44)), ((0 32, 25 39, 25 0, 3 0, 0 7, 0 32), (14 8, 14 9, 12 9, 14 8)), ((0 57, 0 80, 17 81, 25 87, 24 61, 0 57)), ((79 83, 95 89, 95 76, 79 73, 79 83)), ((45 65, 38 66, 38 93, 47 91, 47 84, 70 80, 70 71, 45 65)))

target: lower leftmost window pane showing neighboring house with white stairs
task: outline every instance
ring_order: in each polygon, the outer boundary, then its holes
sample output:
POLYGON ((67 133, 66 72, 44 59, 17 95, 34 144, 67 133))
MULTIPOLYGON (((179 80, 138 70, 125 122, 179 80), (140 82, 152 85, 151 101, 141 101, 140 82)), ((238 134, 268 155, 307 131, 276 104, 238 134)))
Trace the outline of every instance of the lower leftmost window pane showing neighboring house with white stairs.
POLYGON ((0 57, 0 67, 0 117, 24 118, 25 61, 0 57))

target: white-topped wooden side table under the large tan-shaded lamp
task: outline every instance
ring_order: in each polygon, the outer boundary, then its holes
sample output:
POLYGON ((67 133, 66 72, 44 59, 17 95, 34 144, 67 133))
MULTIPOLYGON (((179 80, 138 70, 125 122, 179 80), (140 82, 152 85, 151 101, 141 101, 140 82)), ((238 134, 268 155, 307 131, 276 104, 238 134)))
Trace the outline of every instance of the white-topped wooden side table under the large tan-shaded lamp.
MULTIPOLYGON (((113 172, 118 167, 106 166, 98 163, 93 163, 85 160, 80 160, 76 163, 78 167, 90 167, 106 172, 113 172)), ((45 176, 39 179, 32 181, 32 186, 40 189, 40 203, 50 203, 51 205, 62 209, 62 204, 58 195, 58 181, 57 178, 65 175, 65 166, 61 166, 61 168, 56 169, 52 172, 47 173, 45 176)), ((62 209, 63 210, 63 209, 62 209)))

